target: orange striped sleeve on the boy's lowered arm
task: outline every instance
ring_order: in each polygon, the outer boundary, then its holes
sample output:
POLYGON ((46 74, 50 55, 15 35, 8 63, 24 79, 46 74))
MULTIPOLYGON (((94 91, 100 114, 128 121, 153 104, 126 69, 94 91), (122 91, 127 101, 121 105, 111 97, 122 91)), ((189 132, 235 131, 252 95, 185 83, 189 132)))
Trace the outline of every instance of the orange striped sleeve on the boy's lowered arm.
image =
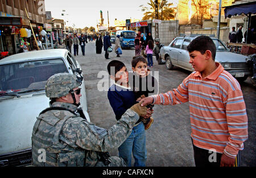
POLYGON ((234 90, 228 93, 224 104, 226 106, 226 119, 230 134, 224 154, 230 158, 236 158, 238 151, 243 150, 243 142, 248 138, 247 114, 242 91, 234 90))

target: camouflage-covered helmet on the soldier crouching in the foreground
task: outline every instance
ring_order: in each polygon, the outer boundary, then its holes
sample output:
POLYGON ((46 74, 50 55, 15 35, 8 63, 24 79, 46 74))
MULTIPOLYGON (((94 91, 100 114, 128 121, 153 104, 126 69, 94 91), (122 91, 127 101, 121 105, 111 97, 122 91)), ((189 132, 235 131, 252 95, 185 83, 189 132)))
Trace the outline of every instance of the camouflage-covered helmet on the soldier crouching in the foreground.
POLYGON ((59 98, 66 96, 70 90, 77 88, 81 82, 71 73, 57 73, 49 77, 46 82, 46 96, 59 98))

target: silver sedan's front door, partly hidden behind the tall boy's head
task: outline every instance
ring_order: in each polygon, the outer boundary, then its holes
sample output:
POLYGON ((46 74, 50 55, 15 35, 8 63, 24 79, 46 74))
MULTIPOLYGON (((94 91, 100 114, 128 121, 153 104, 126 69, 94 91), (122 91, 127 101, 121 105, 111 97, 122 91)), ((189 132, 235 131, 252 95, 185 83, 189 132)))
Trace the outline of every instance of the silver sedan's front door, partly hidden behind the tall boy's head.
POLYGON ((191 42, 190 39, 184 39, 181 49, 179 49, 177 63, 181 68, 185 68, 188 71, 192 70, 192 65, 189 64, 189 54, 187 46, 191 42))

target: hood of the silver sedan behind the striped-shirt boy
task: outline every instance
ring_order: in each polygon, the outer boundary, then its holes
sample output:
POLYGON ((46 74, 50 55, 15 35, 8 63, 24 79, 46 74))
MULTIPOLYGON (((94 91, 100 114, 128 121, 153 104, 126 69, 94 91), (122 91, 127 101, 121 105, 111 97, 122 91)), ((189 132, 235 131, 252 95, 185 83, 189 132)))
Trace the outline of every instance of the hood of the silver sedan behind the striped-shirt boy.
POLYGON ((247 56, 233 52, 217 51, 215 61, 219 63, 246 63, 247 56))

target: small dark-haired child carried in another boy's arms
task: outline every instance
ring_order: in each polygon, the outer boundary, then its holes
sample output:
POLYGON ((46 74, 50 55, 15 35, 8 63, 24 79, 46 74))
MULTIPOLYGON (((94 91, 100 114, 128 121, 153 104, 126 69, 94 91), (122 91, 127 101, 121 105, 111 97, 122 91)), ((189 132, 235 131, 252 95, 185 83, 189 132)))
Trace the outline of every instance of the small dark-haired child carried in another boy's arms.
MULTIPOLYGON (((141 101, 142 98, 148 97, 149 94, 158 94, 158 81, 151 75, 150 69, 147 68, 147 61, 143 56, 133 57, 133 60, 131 60, 131 69, 134 72, 132 87, 135 98, 137 98, 136 101, 141 101)), ((148 130, 154 122, 154 118, 152 117, 141 117, 140 119, 143 122, 145 130, 148 130)))

